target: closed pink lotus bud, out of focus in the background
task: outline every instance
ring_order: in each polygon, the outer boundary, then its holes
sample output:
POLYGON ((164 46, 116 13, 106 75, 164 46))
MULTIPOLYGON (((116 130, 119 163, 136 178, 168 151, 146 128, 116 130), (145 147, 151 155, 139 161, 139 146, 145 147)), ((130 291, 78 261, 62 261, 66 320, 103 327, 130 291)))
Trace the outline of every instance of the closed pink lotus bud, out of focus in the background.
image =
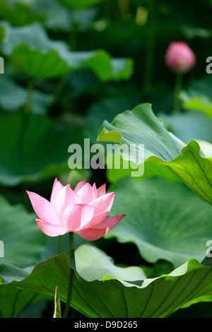
POLYGON ((194 67, 196 57, 186 42, 171 42, 165 53, 165 64, 175 73, 185 73, 194 67))

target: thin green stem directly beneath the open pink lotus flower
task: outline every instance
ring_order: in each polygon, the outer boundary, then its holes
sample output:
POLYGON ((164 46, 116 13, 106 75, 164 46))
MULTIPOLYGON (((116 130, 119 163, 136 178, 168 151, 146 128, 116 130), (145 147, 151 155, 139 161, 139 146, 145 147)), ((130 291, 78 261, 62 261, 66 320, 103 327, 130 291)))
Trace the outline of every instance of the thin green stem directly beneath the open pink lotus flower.
POLYGON ((69 282, 68 282, 68 294, 66 299, 66 307, 64 309, 63 318, 67 318, 69 314, 69 309, 71 305, 71 295, 73 286, 73 269, 71 268, 71 259, 73 259, 74 249, 73 249, 73 232, 69 232, 69 282))

